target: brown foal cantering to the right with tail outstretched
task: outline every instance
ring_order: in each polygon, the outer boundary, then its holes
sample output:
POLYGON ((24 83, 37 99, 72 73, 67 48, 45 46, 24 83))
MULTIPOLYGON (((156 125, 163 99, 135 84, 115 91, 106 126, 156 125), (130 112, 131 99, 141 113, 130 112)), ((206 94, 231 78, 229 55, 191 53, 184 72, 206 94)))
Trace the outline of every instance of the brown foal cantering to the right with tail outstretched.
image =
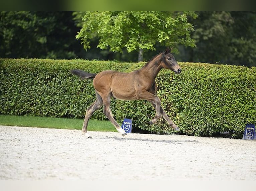
POLYGON ((154 56, 141 69, 129 73, 106 70, 98 74, 92 74, 78 69, 70 70, 71 74, 77 75, 81 79, 93 79, 96 94, 96 100, 86 110, 82 134, 87 138, 92 138, 87 132, 88 121, 94 111, 103 105, 103 113, 115 126, 116 130, 124 136, 127 135, 112 115, 110 109, 111 97, 121 100, 147 100, 156 110, 155 117, 149 122, 150 125, 163 117, 175 131, 179 131, 178 126, 165 113, 160 99, 156 95, 155 78, 161 69, 169 69, 176 74, 181 73, 181 69, 169 48, 154 56))

